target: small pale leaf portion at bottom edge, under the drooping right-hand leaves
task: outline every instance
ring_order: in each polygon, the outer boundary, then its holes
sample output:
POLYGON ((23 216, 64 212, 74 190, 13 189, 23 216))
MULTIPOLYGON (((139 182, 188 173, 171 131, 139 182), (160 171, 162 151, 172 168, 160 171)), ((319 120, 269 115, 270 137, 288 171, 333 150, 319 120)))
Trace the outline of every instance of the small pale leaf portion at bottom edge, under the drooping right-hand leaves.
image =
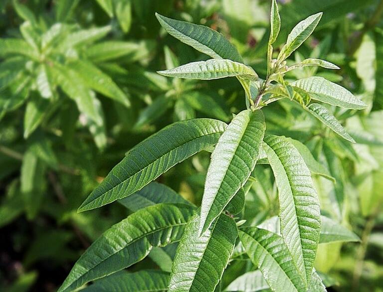
POLYGON ((265 278, 263 278, 260 270, 247 272, 227 286, 225 292, 257 292, 264 291, 269 288, 265 278))

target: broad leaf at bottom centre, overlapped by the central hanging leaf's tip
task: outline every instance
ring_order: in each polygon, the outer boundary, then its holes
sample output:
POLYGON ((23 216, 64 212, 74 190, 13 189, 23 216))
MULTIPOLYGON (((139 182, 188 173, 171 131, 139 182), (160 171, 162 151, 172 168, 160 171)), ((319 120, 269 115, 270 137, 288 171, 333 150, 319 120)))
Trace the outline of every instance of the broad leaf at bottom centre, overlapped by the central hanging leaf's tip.
POLYGON ((235 221, 221 214, 215 225, 199 236, 200 217, 188 223, 177 249, 169 280, 169 292, 214 291, 238 236, 235 221))

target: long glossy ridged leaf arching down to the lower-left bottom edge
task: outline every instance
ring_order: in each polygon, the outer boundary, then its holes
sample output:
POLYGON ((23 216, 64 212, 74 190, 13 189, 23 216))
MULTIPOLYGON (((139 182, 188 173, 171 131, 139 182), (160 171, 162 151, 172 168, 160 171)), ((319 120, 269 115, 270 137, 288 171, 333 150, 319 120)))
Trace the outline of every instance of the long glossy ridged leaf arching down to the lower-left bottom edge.
POLYGON ((152 247, 179 241, 192 210, 187 205, 158 204, 113 225, 85 251, 58 291, 73 291, 141 261, 152 247))

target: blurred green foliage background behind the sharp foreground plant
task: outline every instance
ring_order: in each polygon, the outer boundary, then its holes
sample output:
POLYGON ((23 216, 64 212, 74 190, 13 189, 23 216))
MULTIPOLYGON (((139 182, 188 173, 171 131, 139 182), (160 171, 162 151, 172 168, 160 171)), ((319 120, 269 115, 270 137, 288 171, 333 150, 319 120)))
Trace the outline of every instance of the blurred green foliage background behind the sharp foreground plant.
MULTIPOLYGON (((342 68, 290 76, 324 76, 369 104, 330 108, 355 145, 289 101, 264 108, 269 133, 305 144, 336 179, 314 175, 323 214, 361 238, 321 244, 316 269, 329 291, 383 291, 383 1, 279 5, 276 44, 299 20, 324 12, 289 62, 324 58, 342 68)), ((156 73, 207 56, 167 35, 155 12, 220 31, 264 77, 269 7, 269 0, 0 1, 0 291, 55 291, 84 249, 129 214, 120 204, 76 209, 132 146, 175 121, 228 122, 244 108, 235 78, 196 82, 156 73)), ((209 153, 200 153, 158 182, 199 204, 208 163, 209 153)), ((253 176, 241 216, 260 224, 278 212, 276 188, 267 165, 253 176)), ((162 268, 164 261, 154 251, 138 265, 162 268)), ((231 262, 221 287, 252 269, 246 259, 231 262)))

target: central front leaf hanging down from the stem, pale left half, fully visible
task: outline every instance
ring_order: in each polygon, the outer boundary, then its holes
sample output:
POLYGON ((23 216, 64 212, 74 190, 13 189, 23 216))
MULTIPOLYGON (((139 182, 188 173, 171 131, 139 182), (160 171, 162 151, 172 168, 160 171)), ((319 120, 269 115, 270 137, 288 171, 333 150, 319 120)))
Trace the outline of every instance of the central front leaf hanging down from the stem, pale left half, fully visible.
POLYGON ((201 203, 203 233, 245 184, 253 171, 266 130, 261 111, 245 110, 234 117, 211 154, 201 203))

